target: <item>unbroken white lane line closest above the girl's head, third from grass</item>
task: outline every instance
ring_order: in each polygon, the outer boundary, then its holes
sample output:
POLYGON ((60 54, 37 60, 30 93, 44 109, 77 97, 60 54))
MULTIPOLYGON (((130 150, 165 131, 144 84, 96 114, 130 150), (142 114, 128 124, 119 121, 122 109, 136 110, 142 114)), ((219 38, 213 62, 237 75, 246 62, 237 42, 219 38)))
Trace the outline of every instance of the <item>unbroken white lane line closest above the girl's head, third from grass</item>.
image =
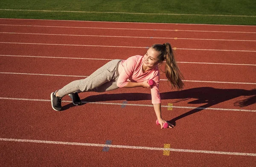
POLYGON ((74 36, 74 37, 123 37, 123 38, 145 38, 145 39, 174 39, 174 40, 221 40, 221 41, 256 42, 256 40, 227 40, 227 39, 178 38, 178 37, 136 37, 136 36, 133 37, 133 36, 112 36, 112 35, 44 34, 44 33, 25 33, 25 32, 0 32, 0 34, 55 35, 55 36, 74 36))

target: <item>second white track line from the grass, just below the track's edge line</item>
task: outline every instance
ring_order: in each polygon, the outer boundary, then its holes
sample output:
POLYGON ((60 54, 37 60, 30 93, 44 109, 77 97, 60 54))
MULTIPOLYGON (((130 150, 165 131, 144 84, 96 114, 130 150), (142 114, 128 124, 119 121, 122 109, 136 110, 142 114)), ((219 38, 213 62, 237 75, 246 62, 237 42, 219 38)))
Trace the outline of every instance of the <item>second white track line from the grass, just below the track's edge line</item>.
POLYGON ((0 26, 55 27, 55 28, 75 28, 75 29, 120 29, 120 30, 174 31, 174 32, 179 32, 179 31, 184 31, 184 32, 224 32, 224 33, 252 33, 252 34, 256 34, 256 32, 180 30, 180 29, 128 29, 128 28, 107 28, 107 27, 36 26, 36 25, 17 25, 17 24, 0 24, 0 26))

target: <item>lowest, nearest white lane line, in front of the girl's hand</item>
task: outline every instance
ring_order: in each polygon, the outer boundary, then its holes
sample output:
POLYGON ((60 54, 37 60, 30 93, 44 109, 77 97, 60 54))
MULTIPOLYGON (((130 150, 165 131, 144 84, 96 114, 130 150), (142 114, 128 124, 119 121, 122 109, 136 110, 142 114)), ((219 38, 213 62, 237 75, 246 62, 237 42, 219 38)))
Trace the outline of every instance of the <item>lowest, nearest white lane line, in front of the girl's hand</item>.
POLYGON ((90 147, 112 147, 112 148, 124 148, 124 149, 139 149, 139 150, 160 150, 160 151, 168 150, 168 151, 186 152, 186 153, 207 153, 207 154, 222 154, 222 155, 256 156, 256 153, 236 153, 236 152, 224 152, 224 151, 188 150, 188 149, 141 147, 141 146, 112 145, 112 144, 109 145, 109 144, 94 144, 94 143, 77 143, 77 142, 66 142, 66 141, 29 140, 29 139, 17 139, 17 138, 0 138, 0 141, 43 143, 43 144, 63 144, 63 145, 90 146, 90 147))

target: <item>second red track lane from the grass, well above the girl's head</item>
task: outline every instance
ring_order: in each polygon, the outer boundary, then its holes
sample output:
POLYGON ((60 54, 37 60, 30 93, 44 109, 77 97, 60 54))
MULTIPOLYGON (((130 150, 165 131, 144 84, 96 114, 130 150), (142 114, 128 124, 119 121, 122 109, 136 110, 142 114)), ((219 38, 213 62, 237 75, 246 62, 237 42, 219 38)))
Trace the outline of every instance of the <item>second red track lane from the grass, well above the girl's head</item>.
MULTIPOLYGON (((154 31, 154 30, 129 30, 129 29, 97 29, 95 28, 61 28, 61 27, 28 27, 28 26, 3 26, 0 32, 14 33, 39 33, 58 35, 102 35, 102 36, 124 36, 141 38, 164 38, 171 40, 177 38, 195 39, 221 39, 221 40, 255 40, 256 33, 229 33, 229 32, 184 32, 184 31, 154 31), (170 38, 170 39, 168 39, 170 38)), ((122 39, 123 37, 117 37, 122 39)), ((124 38, 125 39, 125 38, 124 38)), ((185 40, 185 39, 183 39, 185 40)), ((186 41, 185 40, 185 41, 186 41)), ((254 41, 255 42, 255 41, 254 41)))

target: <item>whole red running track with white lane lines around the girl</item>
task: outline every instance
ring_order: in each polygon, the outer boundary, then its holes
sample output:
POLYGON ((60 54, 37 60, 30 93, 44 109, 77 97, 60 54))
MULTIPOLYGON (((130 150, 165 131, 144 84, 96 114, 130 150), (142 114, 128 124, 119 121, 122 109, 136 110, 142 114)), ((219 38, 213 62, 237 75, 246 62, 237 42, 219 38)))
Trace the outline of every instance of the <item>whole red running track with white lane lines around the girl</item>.
POLYGON ((0 164, 255 166, 255 34, 255 26, 0 19, 0 75, 4 78, 0 81, 0 164), (39 33, 45 35, 35 35, 39 33), (52 110, 51 92, 90 75, 109 61, 94 58, 143 55, 147 46, 166 41, 177 48, 178 65, 186 79, 185 88, 176 91, 160 75, 162 115, 175 121, 175 128, 160 130, 154 123, 153 107, 143 106, 151 105, 148 89, 81 93, 82 101, 96 103, 73 107, 64 97, 64 111, 52 110), (172 110, 168 104, 173 104, 172 110), (103 152, 104 146, 99 144, 108 140, 112 146, 103 152), (177 150, 163 155, 164 144, 177 150))

